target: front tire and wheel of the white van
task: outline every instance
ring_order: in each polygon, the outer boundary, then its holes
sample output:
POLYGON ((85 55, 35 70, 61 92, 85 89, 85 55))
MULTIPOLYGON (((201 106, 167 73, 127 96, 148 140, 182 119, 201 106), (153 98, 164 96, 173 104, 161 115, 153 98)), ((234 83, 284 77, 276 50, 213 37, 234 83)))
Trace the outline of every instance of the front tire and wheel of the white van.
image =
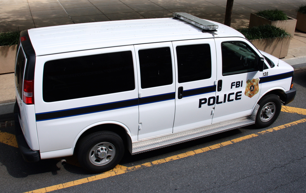
POLYGON ((278 118, 282 102, 277 95, 270 94, 261 98, 258 104, 255 125, 258 128, 268 127, 278 118))

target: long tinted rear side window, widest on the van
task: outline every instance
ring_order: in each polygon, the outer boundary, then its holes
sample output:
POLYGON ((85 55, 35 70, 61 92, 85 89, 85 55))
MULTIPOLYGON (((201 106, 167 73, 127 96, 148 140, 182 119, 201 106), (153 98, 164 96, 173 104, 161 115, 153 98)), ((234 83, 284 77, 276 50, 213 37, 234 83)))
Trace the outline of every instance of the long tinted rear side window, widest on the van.
POLYGON ((48 61, 43 100, 54 102, 135 89, 131 51, 48 61))

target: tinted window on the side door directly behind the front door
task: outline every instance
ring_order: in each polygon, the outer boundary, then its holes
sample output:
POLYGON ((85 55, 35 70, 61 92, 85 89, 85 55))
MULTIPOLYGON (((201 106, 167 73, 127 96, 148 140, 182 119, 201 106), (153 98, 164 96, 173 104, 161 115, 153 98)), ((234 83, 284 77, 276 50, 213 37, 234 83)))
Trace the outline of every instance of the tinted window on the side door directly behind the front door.
POLYGON ((178 82, 191 82, 211 77, 209 44, 177 46, 178 82))

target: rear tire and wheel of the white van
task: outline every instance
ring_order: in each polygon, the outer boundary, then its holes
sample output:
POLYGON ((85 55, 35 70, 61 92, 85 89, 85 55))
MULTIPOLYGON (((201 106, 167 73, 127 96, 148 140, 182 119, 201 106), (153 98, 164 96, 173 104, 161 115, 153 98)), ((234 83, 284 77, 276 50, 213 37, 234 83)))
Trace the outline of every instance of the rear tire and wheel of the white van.
POLYGON ((101 131, 80 140, 77 157, 80 165, 92 173, 113 169, 124 155, 124 145, 118 134, 101 131))

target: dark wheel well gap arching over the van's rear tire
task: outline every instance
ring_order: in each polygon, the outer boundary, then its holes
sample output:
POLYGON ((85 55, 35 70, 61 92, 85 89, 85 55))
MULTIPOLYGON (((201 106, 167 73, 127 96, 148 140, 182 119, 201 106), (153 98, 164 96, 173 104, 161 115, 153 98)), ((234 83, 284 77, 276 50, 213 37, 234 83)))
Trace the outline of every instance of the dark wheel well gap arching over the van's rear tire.
MULTIPOLYGON (((118 134, 121 139, 123 140, 123 143, 125 145, 125 148, 127 148, 130 152, 132 152, 132 140, 129 136, 129 134, 125 131, 125 129, 119 125, 116 124, 102 124, 97 125, 94 127, 91 127, 90 129, 87 129, 77 140, 76 146, 74 148, 74 153, 76 152, 77 144, 80 142, 82 138, 89 135, 90 133, 99 132, 99 131, 110 131, 118 134)), ((73 153, 73 154, 74 154, 73 153)))

